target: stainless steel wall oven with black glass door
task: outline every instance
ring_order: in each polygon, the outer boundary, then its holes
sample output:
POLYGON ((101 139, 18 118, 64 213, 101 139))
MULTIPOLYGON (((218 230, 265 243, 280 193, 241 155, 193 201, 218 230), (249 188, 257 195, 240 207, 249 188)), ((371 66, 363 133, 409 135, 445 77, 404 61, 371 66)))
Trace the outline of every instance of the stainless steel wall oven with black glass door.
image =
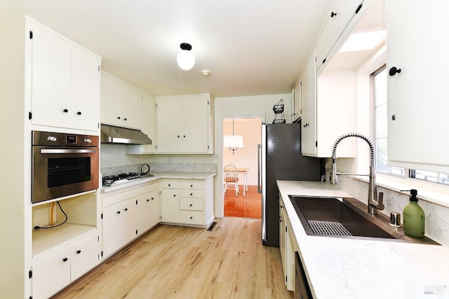
POLYGON ((95 190, 99 137, 32 131, 32 202, 95 190))

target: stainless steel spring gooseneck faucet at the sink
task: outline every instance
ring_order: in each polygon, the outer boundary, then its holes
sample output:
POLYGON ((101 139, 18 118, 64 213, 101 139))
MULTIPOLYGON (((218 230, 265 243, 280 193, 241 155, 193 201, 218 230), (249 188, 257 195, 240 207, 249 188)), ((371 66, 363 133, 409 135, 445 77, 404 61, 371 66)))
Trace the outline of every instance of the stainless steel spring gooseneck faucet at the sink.
MULTIPOLYGON (((358 133, 348 133, 344 134, 335 140, 333 146, 332 146, 332 172, 330 173, 330 183, 336 185, 338 183, 337 175, 337 156, 335 151, 337 151, 337 145, 342 141, 343 139, 347 137, 357 137, 360 139, 363 139, 366 141, 368 146, 370 146, 370 181, 369 181, 369 187, 368 187, 368 213, 369 214, 377 214, 377 210, 384 209, 384 204, 382 204, 384 193, 380 192, 379 197, 377 197, 377 185, 375 181, 375 172, 374 172, 374 146, 373 142, 368 139, 368 137, 358 134, 358 133)), ((346 174, 347 175, 347 174, 346 174)), ((354 175, 360 175, 360 174, 354 174, 354 175)), ((363 174, 365 175, 365 174, 363 174)))

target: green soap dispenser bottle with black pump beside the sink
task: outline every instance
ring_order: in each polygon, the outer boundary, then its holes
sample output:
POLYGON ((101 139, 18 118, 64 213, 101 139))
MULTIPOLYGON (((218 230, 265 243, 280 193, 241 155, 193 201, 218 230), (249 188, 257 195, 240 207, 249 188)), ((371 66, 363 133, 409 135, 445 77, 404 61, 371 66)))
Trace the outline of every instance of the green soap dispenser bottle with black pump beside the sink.
POLYGON ((424 211, 418 204, 418 194, 416 189, 410 190, 410 203, 403 211, 404 232, 413 237, 424 237, 426 218, 424 211))

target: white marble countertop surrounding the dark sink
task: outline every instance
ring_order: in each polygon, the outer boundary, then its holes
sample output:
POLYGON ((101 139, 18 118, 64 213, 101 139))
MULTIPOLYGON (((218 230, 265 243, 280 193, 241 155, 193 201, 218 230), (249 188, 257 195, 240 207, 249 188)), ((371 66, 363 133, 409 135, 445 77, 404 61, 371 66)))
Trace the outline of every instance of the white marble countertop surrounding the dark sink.
POLYGON ((309 236, 288 195, 351 195, 330 183, 277 183, 314 298, 449 298, 449 247, 309 236))

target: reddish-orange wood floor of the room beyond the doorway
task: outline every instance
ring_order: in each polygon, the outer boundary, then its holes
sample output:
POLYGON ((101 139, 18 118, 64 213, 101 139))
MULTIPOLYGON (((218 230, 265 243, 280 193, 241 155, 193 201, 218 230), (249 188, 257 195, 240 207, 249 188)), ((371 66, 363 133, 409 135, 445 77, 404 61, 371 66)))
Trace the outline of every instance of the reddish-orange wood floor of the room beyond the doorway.
POLYGON ((262 218, 262 193, 257 192, 257 186, 248 186, 243 196, 243 186, 239 186, 240 193, 236 197, 234 190, 225 193, 225 216, 262 218))

